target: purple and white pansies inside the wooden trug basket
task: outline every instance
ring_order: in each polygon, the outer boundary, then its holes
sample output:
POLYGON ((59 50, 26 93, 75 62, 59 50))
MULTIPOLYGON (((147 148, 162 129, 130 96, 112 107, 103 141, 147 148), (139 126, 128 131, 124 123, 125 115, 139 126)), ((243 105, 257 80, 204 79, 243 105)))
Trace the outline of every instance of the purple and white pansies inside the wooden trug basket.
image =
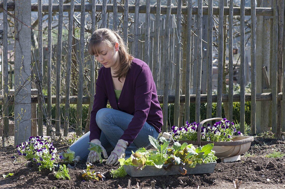
MULTIPOLYGON (((186 124, 184 127, 178 128, 177 126, 172 126, 172 136, 176 140, 197 140, 197 128, 199 123, 193 122, 186 124)), ((216 122, 211 126, 207 124, 207 126, 201 127, 201 141, 211 141, 211 142, 227 142, 231 141, 234 133, 236 132, 236 128, 233 122, 228 121, 226 118, 223 120, 216 122)), ((241 132, 237 133, 238 135, 243 135, 241 132)))

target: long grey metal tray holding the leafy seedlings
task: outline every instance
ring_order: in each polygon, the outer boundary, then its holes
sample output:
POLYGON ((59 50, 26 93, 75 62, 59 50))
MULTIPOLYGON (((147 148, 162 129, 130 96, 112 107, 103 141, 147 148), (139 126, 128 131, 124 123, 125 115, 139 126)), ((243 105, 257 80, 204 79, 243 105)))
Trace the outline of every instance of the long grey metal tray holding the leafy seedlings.
MULTIPOLYGON (((194 168, 184 167, 187 170, 186 175, 189 174, 207 174, 213 173, 216 162, 214 163, 202 163, 197 164, 194 168)), ((163 167, 167 167, 164 165, 163 167)), ((164 168, 158 169, 153 165, 146 165, 143 170, 137 169, 135 166, 124 165, 127 174, 131 177, 142 177, 142 176, 162 176, 162 175, 180 175, 178 171, 179 165, 173 165, 171 169, 165 170, 164 168)))

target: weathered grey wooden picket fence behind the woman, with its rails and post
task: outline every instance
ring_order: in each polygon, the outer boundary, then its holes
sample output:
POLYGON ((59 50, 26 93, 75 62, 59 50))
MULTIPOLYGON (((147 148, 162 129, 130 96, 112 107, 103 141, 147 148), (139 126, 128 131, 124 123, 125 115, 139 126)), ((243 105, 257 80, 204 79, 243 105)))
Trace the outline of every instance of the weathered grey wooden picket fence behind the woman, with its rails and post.
MULTIPOLYGON (((42 0, 38 0, 38 3, 30 4, 30 0, 21 0, 11 3, 3 1, 0 3, 0 12, 3 12, 3 94, 9 94, 8 85, 8 60, 7 60, 7 15, 14 16, 15 18, 15 91, 18 91, 16 95, 2 95, 1 104, 3 107, 8 107, 9 103, 15 105, 15 115, 21 114, 21 108, 27 111, 21 119, 18 117, 15 119, 15 127, 18 131, 15 133, 15 144, 17 141, 22 141, 27 138, 27 134, 24 136, 24 131, 30 129, 31 120, 31 104, 38 103, 38 135, 50 135, 50 130, 47 129, 47 133, 43 133, 43 117, 49 117, 51 119, 51 105, 56 104, 56 118, 55 120, 60 120, 60 104, 65 103, 65 115, 64 115, 64 136, 68 133, 68 122, 69 122, 69 110, 70 104, 77 104, 77 134, 82 132, 82 104, 89 104, 90 108, 93 105, 93 96, 95 93, 95 80, 97 77, 97 64, 95 63, 94 57, 91 57, 92 61, 90 64, 90 85, 89 96, 83 96, 83 86, 84 86, 84 63, 87 57, 84 57, 85 41, 84 32, 85 24, 80 24, 80 59, 78 60, 78 95, 70 96, 70 70, 71 70, 71 57, 72 57, 72 30, 73 30, 73 16, 74 12, 81 12, 80 23, 85 23, 86 15, 90 14, 92 32, 96 29, 96 12, 102 13, 102 26, 107 27, 107 13, 113 13, 113 29, 118 29, 119 20, 118 13, 123 13, 123 39, 126 44, 129 45, 134 57, 139 57, 143 59, 152 68, 152 74, 156 85, 160 83, 159 88, 163 90, 163 95, 159 95, 158 99, 160 103, 163 103, 163 131, 167 130, 167 115, 168 115, 168 103, 174 103, 174 125, 179 125, 179 114, 180 114, 180 103, 185 103, 185 113, 184 116, 190 117, 190 103, 196 104, 196 122, 200 122, 200 104, 207 103, 207 118, 212 117, 212 103, 217 103, 217 115, 216 117, 221 117, 222 113, 222 102, 228 102, 229 105, 229 117, 228 120, 233 121, 233 102, 239 101, 241 104, 240 109, 240 129, 241 132, 245 131, 245 102, 251 101, 251 132, 255 134, 256 131, 256 102, 257 101, 272 101, 272 131, 276 132, 277 136, 280 136, 281 125, 283 130, 285 130, 285 101, 282 101, 285 96, 283 90, 285 89, 285 82, 282 83, 282 78, 284 77, 284 68, 282 68, 283 61, 283 31, 284 31, 284 5, 278 5, 278 0, 273 0, 273 8, 262 8, 256 7, 255 0, 251 0, 251 7, 245 7, 245 0, 241 0, 240 7, 233 7, 233 0, 230 0, 229 7, 224 7, 224 1, 219 1, 218 7, 213 7, 213 0, 208 0, 206 7, 203 7, 203 1, 198 0, 198 6, 192 6, 192 0, 187 1, 186 6, 182 6, 182 0, 178 0, 178 5, 174 6, 171 0, 167 1, 167 5, 161 5, 161 0, 157 0, 156 5, 150 5, 150 1, 146 1, 146 5, 140 5, 139 0, 135 0, 135 5, 130 5, 129 1, 124 1, 121 5, 113 0, 113 4, 107 4, 107 0, 103 0, 102 4, 95 4, 95 0, 89 0, 89 4, 85 1, 81 1, 81 4, 76 4, 74 0, 71 0, 70 4, 63 4, 63 1, 59 1, 59 4, 52 4, 52 0, 49 0, 48 4, 42 4, 42 0), (14 15, 9 13, 9 11, 15 11, 14 15), (22 47, 31 46, 30 40, 25 41, 27 36, 30 36, 30 26, 31 12, 38 12, 38 94, 36 96, 31 96, 30 93, 27 95, 27 91, 31 90, 31 84, 25 85, 23 81, 29 77, 29 74, 23 74, 23 69, 30 69, 30 49, 23 50, 22 47), (283 11, 283 12, 282 12, 283 11), (42 13, 48 12, 48 86, 47 86, 47 96, 42 95, 42 78, 43 78, 43 36, 42 36, 42 13), (56 33, 58 35, 57 48, 56 48, 56 95, 52 95, 52 82, 51 82, 51 67, 52 67, 52 13, 58 12, 58 26, 56 33), (61 65, 62 65, 62 26, 63 26, 63 13, 69 12, 69 24, 68 24, 68 46, 67 46, 67 62, 66 62, 66 84, 65 84, 65 96, 61 95, 61 65), (132 29, 133 39, 129 41, 128 35, 128 16, 129 13, 134 13, 134 26, 132 29), (160 13, 160 14, 156 14, 160 13), (146 20, 144 23, 144 30, 140 27, 139 14, 145 14, 146 20), (150 21, 150 14, 156 14, 155 21, 150 21), (161 19, 161 14, 166 14, 166 20, 161 19), (201 94, 201 69, 202 69, 202 15, 208 15, 208 37, 207 37, 207 94, 201 94), (21 16, 19 16, 21 15, 21 16), (25 17, 25 16, 27 17, 25 17), (173 28, 171 22, 171 15, 176 18, 176 32, 171 33, 170 28, 173 28), (197 50, 197 60, 195 66, 197 66, 197 72, 194 74, 196 78, 196 91, 195 95, 190 94, 190 74, 185 75, 185 94, 180 93, 181 89, 181 36, 187 36, 187 58, 186 67, 183 68, 186 73, 190 73, 192 68, 191 64, 193 62, 193 37, 191 33, 191 27, 193 24, 192 19, 187 19, 187 30, 188 32, 181 33, 181 22, 182 15, 187 18, 192 18, 192 16, 197 15, 197 45, 194 47, 197 50), (212 57, 212 43, 213 43, 213 15, 219 15, 218 24, 218 87, 217 95, 212 95, 212 67, 213 67, 213 57, 212 57), (229 15, 229 93, 222 94, 223 86, 223 57, 224 54, 224 15, 229 15), (240 94, 233 94, 233 16, 240 16, 240 94), (251 94, 245 93, 245 16, 251 16, 251 94), (270 93, 256 93, 257 82, 257 54, 256 54, 256 29, 257 29, 257 16, 273 16, 272 19, 272 31, 270 34, 270 47, 272 61, 270 62, 270 87, 272 91, 270 93), (178 20, 178 22, 177 22, 178 20), (279 20, 279 22, 278 22, 279 20), (163 26, 162 26, 163 23, 163 26), (153 32, 150 32, 151 25, 153 32), (159 37, 160 32, 163 32, 163 38, 159 37), (279 33, 278 33, 279 32, 279 33), (143 34, 143 35, 142 35, 143 34), (152 34, 152 35, 150 35, 152 34), (279 35, 278 35, 279 34, 279 35), (175 35, 176 40, 173 40, 173 35, 175 35), (139 39, 144 36, 144 39, 139 39), (151 39, 151 41, 150 41, 151 39), (143 42, 141 42, 144 40, 143 42), (161 43, 163 40, 163 43, 161 43), (278 43, 279 41, 279 43, 278 43), (281 43, 280 43, 281 41, 281 43), (153 42, 153 45, 150 43, 153 42), (172 52, 174 44, 174 52, 172 52), (151 48, 151 49, 150 49, 151 48), (142 51, 143 50, 143 51, 142 51), (281 53, 282 52, 282 53, 281 53), (163 55, 162 55, 163 54, 163 55), (170 59, 171 57, 174 59, 170 59), (174 69, 170 70, 174 64, 174 69), (95 67, 96 65, 96 67, 95 67), (24 68, 23 68, 24 67, 24 68), (175 71, 175 95, 169 95, 169 88, 171 83, 169 83, 170 71, 175 71), (160 74, 159 74, 160 72, 160 74), (18 74, 18 75, 17 75, 18 74), (21 78, 19 78, 21 75, 21 78), (19 83, 19 81, 22 81, 19 83), (17 81, 17 82, 16 82, 17 81), (25 87, 25 96, 23 96, 23 86, 25 87), (283 92, 283 93, 282 93, 283 92), (23 99, 27 101, 23 101, 23 99), (17 105, 19 104, 19 105, 17 105), (282 108, 281 108, 282 107, 282 108), (46 108, 46 109, 45 109, 46 108), (282 109, 282 111, 281 111, 282 109), (28 111, 30 110, 30 111, 28 111), (48 113, 43 115, 44 111, 48 113)), ((184 17, 185 18, 185 17, 184 17)), ((196 59, 196 57, 194 57, 196 59)), ((27 70, 26 70, 27 71, 27 70)), ((28 71, 27 71, 28 72, 28 71)), ((8 109, 4 108, 2 114, 8 115, 8 109)), ((22 110, 23 111, 23 110, 22 110)), ((181 124, 181 120, 180 120, 181 124)), ((8 118, 3 118, 4 132, 3 138, 8 136, 9 122, 8 118)), ((60 121, 56 121, 56 132, 60 133, 60 121)), ((29 131, 29 130, 28 130, 29 131)), ((29 133, 29 132, 27 132, 29 133)))

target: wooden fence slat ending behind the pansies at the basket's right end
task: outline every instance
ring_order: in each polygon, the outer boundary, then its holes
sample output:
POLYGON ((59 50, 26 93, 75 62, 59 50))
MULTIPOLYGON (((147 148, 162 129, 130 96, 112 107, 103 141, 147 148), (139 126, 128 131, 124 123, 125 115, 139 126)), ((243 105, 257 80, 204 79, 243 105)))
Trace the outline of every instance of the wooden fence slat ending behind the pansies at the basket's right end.
POLYGON ((233 121, 233 0, 229 5, 229 121, 233 121))

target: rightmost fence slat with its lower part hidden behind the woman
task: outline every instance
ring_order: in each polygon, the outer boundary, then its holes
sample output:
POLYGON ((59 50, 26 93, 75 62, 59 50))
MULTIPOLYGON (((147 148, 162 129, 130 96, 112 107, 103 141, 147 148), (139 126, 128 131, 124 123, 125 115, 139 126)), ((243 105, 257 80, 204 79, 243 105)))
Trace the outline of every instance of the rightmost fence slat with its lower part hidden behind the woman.
MULTIPOLYGON (((159 14, 156 14, 155 16, 155 37, 154 37, 154 56, 153 56, 153 71, 152 76, 154 78, 154 83, 156 84, 156 88, 158 86, 158 56, 159 56, 159 26, 160 26, 160 5, 161 0, 156 1, 156 12, 159 14)), ((154 22, 153 22, 154 23, 154 22)))

